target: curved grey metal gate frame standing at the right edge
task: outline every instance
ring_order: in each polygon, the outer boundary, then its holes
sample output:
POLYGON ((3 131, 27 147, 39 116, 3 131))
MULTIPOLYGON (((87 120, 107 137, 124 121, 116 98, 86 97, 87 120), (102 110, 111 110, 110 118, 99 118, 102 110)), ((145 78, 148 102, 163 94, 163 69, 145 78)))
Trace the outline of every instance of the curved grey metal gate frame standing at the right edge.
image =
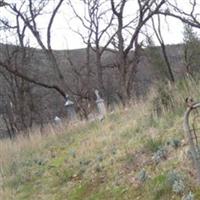
POLYGON ((184 115, 184 123, 183 123, 183 127, 184 130, 186 132, 186 136, 188 139, 188 143, 190 146, 190 151, 192 154, 192 159, 193 159, 193 163, 195 165, 195 168, 197 170, 197 181, 200 184, 200 152, 199 152, 199 146, 198 146, 198 142, 195 141, 196 135, 195 135, 195 130, 190 128, 189 125, 189 117, 190 117, 190 113, 192 111, 194 111, 195 109, 200 107, 200 103, 193 103, 192 105, 190 105, 184 115))

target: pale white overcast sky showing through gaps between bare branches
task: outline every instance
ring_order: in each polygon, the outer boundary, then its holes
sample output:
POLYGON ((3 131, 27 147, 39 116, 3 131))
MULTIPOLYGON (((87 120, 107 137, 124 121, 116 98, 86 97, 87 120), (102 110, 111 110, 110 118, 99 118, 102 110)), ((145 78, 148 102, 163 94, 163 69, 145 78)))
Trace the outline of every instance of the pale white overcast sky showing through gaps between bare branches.
MULTIPOLYGON (((73 0, 73 2, 75 3, 75 6, 77 8, 78 11, 82 12, 83 8, 81 6, 81 4, 76 3, 77 0, 73 0)), ((181 0, 180 0, 181 1, 181 0)), ((16 0, 8 0, 7 2, 11 3, 11 2, 16 2, 16 0)), ((55 3, 57 1, 52 0, 52 4, 51 6, 55 6, 55 3)), ((181 1, 182 2, 182 1, 181 1)), ((186 4, 182 4, 183 7, 186 6, 186 4)), ((126 12, 133 12, 132 11, 132 6, 130 6, 130 8, 126 8, 126 12)), ((49 8, 49 10, 51 10, 51 8, 49 8)), ((1 15, 6 15, 8 16, 8 12, 3 10, 3 8, 1 8, 1 15)), ((81 37, 79 35, 77 35, 76 33, 74 33, 72 30, 70 30, 69 28, 69 23, 67 23, 67 21, 69 21, 69 19, 71 20, 73 17, 73 13, 72 11, 67 8, 67 5, 64 4, 62 10, 60 10, 60 13, 56 16, 55 18, 55 23, 53 25, 53 31, 52 31, 52 48, 53 49, 77 49, 77 48, 84 48, 85 45, 81 39, 81 37)), ((11 18, 11 17, 10 17, 11 18)), ((38 22, 40 23, 40 30, 41 32, 44 30, 46 24, 48 23, 48 16, 42 16, 38 22)), ((83 29, 81 29, 80 23, 78 23, 77 20, 71 20, 72 23, 70 23, 70 26, 72 26, 72 28, 74 30, 81 30, 84 32, 83 29)), ((151 29, 148 29, 148 32, 152 32, 151 29)), ((45 33, 45 32, 44 32, 45 33)), ((172 19, 172 18, 167 18, 167 20, 165 20, 163 18, 162 20, 162 34, 163 34, 163 38, 166 44, 177 44, 177 43, 181 43, 183 41, 183 24, 176 20, 176 19, 172 19), (167 23, 166 23, 167 22, 167 23)), ((29 34, 30 36, 31 34, 29 34)), ((2 39, 4 35, 1 35, 0 39, 2 39)), ((14 41, 15 38, 12 37, 12 35, 8 34, 7 35, 7 41, 14 41)), ((30 37, 30 43, 32 46, 34 47, 38 47, 38 45, 35 43, 35 41, 32 39, 32 37, 30 37)), ((42 38, 45 41, 45 34, 42 34, 42 38)), ((5 39, 4 39, 5 41, 5 39)), ((155 40, 156 42, 156 40, 155 40)), ((158 44, 158 43, 157 43, 158 44)))

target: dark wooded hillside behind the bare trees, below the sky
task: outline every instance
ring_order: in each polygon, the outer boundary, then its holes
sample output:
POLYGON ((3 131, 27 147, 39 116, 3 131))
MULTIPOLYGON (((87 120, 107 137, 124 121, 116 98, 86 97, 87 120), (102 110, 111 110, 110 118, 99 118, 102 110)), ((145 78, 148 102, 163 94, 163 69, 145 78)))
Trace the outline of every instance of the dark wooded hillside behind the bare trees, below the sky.
MULTIPOLYGON (((166 46, 174 76, 182 77, 185 71, 183 60, 183 45, 166 46)), ((133 97, 141 97, 151 88, 155 80, 166 78, 166 67, 163 62, 151 63, 150 55, 159 60, 159 47, 149 51, 141 51, 140 62, 133 75, 133 97), (148 52, 148 53, 147 53, 148 52), (153 52, 157 52, 156 54, 153 52)), ((129 59, 133 57, 130 52, 129 59)), ((0 44, 0 61, 9 63, 10 69, 17 69, 21 74, 37 82, 59 86, 62 91, 75 102, 76 111, 80 118, 88 116, 94 111, 94 90, 98 88, 97 67, 95 52, 90 52, 90 64, 86 61, 86 49, 54 51, 60 72, 64 77, 61 83, 58 73, 40 49, 25 48, 0 44), (24 51, 26 56, 24 58, 24 51), (88 74, 89 73, 89 74, 88 74), (89 82, 90 84, 89 84, 89 82)), ((105 88, 103 98, 110 107, 120 102, 119 70, 115 66, 117 55, 108 49, 102 55, 103 85, 105 88)), ((24 130, 35 124, 52 122, 55 116, 66 118, 64 98, 55 89, 47 89, 16 78, 4 67, 0 66, 0 138, 11 135, 10 130, 24 130), (13 105, 11 108, 10 104, 13 105), (9 119, 9 123, 5 119, 9 119), (12 128, 8 128, 11 126, 12 128), (14 127, 14 128, 13 128, 14 127)), ((12 133, 15 134, 15 133, 12 133)))

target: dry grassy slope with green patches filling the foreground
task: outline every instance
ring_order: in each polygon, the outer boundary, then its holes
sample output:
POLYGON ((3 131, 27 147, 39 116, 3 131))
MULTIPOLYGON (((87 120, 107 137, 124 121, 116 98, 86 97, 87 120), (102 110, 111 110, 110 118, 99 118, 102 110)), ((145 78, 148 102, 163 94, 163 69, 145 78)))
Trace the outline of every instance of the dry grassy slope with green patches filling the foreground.
POLYGON ((46 136, 36 133, 1 142, 0 199, 179 200, 189 191, 200 199, 182 130, 182 102, 194 91, 192 82, 169 87, 168 104, 175 106, 159 117, 152 105, 166 102, 153 95, 148 103, 117 109, 103 122, 48 126, 46 136), (179 148, 167 144, 173 139, 182 141, 179 148), (166 149, 166 159, 156 163, 152 157, 160 147, 166 149), (144 182, 137 178, 142 169, 148 174, 144 182), (184 177, 181 193, 168 183, 167 174, 173 170, 184 177))

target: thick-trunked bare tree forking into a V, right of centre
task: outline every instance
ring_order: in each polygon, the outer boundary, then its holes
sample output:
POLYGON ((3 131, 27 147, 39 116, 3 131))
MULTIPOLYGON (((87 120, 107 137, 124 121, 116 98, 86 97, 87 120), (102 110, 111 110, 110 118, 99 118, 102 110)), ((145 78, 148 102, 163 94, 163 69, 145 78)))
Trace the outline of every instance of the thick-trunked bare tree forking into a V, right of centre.
POLYGON ((114 46, 117 49, 117 67, 119 69, 119 85, 120 95, 123 104, 125 105, 127 100, 130 98, 130 85, 132 84, 133 75, 136 71, 138 63, 138 53, 129 60, 128 55, 135 46, 135 51, 138 51, 141 46, 138 45, 138 37, 143 26, 152 18, 153 15, 157 14, 165 3, 164 0, 156 1, 137 1, 138 11, 135 16, 130 18, 130 21, 125 22, 124 10, 125 6, 129 1, 123 0, 116 3, 114 0, 110 0, 112 12, 116 17, 117 25, 117 42, 114 41, 114 46), (127 41, 125 32, 129 33, 129 41, 127 41))

